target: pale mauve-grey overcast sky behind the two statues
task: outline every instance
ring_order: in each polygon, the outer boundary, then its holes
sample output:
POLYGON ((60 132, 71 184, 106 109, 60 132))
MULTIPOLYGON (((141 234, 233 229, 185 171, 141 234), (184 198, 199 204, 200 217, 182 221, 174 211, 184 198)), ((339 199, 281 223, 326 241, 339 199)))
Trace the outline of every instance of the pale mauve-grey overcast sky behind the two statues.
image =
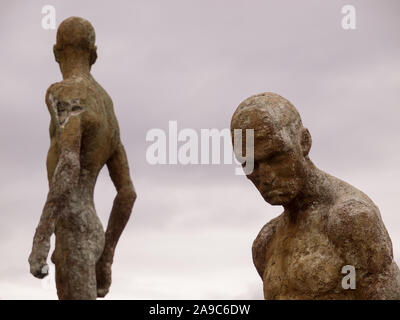
MULTIPOLYGON (((146 133, 228 128, 250 95, 289 99, 309 128, 311 158, 378 205, 400 262, 400 2, 2 1, 0 4, 0 298, 56 299, 29 273, 48 191, 46 89, 61 80, 42 6, 88 19, 93 76, 114 101, 138 193, 117 247, 108 299, 261 299, 252 241, 281 211, 234 165, 146 162, 146 133), (356 30, 341 8, 356 8, 356 30)), ((104 169, 104 227, 115 196, 104 169)))

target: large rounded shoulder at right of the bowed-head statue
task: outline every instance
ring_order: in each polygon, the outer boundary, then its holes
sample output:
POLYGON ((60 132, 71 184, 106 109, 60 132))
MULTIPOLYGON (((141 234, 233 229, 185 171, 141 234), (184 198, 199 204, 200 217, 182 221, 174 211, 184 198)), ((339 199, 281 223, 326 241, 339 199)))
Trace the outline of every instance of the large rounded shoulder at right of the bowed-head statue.
POLYGON ((367 273, 382 272, 393 260, 392 243, 378 209, 357 200, 334 208, 328 235, 344 262, 367 273))

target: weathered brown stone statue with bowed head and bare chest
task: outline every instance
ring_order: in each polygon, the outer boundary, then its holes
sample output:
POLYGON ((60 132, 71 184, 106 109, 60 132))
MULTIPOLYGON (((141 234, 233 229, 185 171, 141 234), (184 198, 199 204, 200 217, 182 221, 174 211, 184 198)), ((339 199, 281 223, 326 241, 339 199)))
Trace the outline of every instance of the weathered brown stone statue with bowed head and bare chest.
POLYGON ((400 299, 400 272, 379 209, 315 167, 295 107, 274 93, 252 96, 236 109, 231 129, 254 129, 247 177, 265 201, 284 208, 253 243, 265 299, 400 299), (355 268, 355 289, 342 283, 344 266, 355 268))

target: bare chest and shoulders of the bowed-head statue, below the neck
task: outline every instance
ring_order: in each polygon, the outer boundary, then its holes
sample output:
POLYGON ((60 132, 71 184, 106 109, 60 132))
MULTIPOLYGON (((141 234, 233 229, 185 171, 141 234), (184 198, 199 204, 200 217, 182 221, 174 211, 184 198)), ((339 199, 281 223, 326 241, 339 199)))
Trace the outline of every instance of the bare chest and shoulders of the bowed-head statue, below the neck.
POLYGON ((329 200, 297 212, 297 219, 285 211, 253 245, 265 299, 399 299, 400 271, 379 209, 358 189, 326 176, 335 186, 329 200), (372 261, 363 258, 369 254, 372 261), (371 262, 378 263, 373 274, 371 262), (356 267, 355 290, 342 287, 342 268, 349 264, 356 267))

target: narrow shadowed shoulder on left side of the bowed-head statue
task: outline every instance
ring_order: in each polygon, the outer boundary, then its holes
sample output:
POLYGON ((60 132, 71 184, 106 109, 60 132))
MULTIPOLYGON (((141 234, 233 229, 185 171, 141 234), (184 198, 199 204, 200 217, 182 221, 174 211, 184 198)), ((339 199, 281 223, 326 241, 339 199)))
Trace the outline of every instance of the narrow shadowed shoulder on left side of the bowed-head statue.
POLYGON ((276 228, 281 220, 281 217, 282 214, 272 219, 267 224, 265 224, 253 242, 252 246, 253 263, 261 278, 263 277, 265 270, 266 251, 268 250, 268 245, 275 234, 276 228))

